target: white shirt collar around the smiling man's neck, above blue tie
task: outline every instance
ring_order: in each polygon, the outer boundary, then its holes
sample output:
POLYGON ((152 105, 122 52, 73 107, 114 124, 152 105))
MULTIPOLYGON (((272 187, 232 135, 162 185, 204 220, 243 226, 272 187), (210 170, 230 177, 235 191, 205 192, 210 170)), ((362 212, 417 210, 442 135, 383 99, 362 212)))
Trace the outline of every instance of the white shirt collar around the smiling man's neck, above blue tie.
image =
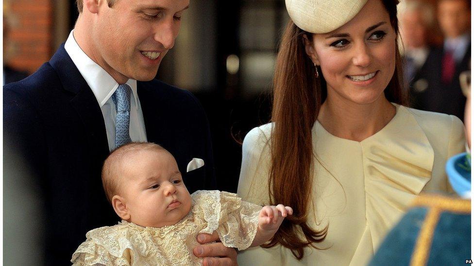
MULTIPOLYGON (((74 30, 69 33, 68 40, 64 48, 76 65, 77 69, 89 85, 92 93, 96 96, 99 106, 102 106, 115 93, 119 87, 119 83, 112 78, 100 65, 90 59, 85 52, 79 47, 73 35, 74 30)), ((138 109, 138 95, 136 93, 136 80, 129 78, 127 85, 132 88, 132 94, 135 100, 135 108, 138 109)))

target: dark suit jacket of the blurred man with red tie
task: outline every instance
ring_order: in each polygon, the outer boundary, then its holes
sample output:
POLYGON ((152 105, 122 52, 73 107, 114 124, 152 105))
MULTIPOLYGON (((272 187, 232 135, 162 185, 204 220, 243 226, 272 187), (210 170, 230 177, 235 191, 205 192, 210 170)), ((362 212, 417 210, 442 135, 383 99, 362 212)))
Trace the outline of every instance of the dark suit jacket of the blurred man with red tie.
POLYGON ((453 114, 463 120, 466 97, 462 94, 459 74, 469 70, 471 45, 460 63, 449 84, 441 81, 443 47, 431 48, 422 68, 410 82, 411 107, 420 110, 453 114))

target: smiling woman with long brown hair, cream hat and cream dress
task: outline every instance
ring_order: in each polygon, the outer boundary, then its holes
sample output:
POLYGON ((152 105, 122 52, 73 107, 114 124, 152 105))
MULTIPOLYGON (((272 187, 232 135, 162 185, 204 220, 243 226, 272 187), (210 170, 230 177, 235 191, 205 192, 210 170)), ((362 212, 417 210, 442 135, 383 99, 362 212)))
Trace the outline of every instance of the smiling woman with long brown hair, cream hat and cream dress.
POLYGON ((286 1, 272 123, 246 136, 237 189, 294 214, 240 265, 365 265, 464 148, 459 119, 403 106, 397 0, 314 2, 286 1))

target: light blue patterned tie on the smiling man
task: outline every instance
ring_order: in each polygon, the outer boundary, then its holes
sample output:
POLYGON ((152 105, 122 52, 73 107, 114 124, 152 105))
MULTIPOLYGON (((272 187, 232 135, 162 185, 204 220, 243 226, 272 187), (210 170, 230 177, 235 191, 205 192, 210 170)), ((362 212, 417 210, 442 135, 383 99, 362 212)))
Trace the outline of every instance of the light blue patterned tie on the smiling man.
POLYGON ((131 142, 130 139, 130 95, 132 89, 127 84, 119 85, 117 91, 112 94, 112 100, 117 110, 117 122, 115 123, 115 147, 131 142))

